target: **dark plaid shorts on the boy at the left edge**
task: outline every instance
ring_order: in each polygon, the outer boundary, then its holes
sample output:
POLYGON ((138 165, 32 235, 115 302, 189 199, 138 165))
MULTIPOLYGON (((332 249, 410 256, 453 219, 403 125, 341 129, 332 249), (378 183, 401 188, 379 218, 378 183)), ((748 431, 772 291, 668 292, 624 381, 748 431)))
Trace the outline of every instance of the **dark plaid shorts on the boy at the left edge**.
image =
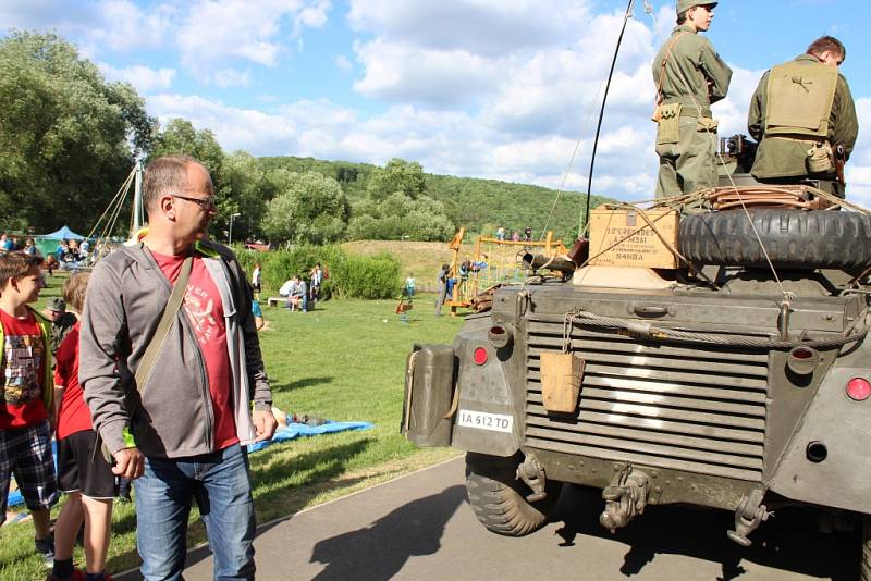
POLYGON ((30 510, 49 509, 58 502, 48 420, 27 428, 0 430, 0 524, 7 516, 12 474, 30 510))

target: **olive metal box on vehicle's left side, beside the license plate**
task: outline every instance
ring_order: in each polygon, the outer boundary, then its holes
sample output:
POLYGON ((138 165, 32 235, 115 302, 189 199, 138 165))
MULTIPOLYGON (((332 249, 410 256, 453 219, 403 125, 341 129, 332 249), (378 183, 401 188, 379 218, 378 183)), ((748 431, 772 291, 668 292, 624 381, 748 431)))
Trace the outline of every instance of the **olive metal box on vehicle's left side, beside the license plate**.
POLYGON ((402 419, 405 437, 419 446, 450 446, 453 395, 453 348, 450 345, 415 345, 405 367, 402 419))

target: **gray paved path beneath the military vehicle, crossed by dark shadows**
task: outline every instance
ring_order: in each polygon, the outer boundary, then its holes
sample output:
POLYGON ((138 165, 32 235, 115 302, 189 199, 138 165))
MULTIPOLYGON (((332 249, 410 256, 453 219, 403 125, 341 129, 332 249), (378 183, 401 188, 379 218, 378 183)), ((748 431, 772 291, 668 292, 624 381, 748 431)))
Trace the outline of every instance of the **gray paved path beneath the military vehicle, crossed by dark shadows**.
MULTIPOLYGON (((598 524, 598 493, 576 486, 560 499, 560 522, 511 539, 487 532, 465 495, 458 459, 270 523, 256 541, 257 577, 846 581, 859 558, 855 536, 822 535, 790 511, 757 531, 750 549, 726 540, 729 515, 688 508, 653 507, 612 536, 598 524)), ((185 579, 211 579, 208 549, 191 553, 185 579)))

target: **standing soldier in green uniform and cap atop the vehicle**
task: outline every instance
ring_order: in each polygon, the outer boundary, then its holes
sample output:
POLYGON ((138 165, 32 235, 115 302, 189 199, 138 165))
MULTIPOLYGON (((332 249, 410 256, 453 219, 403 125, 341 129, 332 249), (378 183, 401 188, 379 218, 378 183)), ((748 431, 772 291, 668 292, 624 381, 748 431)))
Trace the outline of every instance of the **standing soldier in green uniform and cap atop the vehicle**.
POLYGON ((657 84, 657 197, 716 185, 716 121, 711 103, 726 96, 732 69, 698 33, 711 26, 717 2, 679 0, 677 26, 653 61, 657 84))

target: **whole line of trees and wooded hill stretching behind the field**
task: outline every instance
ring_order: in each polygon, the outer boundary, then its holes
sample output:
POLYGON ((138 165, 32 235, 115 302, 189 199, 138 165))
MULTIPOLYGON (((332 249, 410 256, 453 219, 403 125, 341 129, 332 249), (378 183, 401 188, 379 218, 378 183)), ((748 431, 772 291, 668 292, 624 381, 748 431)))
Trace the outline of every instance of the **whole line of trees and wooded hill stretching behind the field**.
POLYGON ((492 235, 545 223, 573 240, 586 203, 577 193, 557 201, 542 187, 426 174, 402 159, 377 166, 228 153, 189 121, 161 126, 130 84, 107 83, 60 36, 0 39, 0 230, 38 234, 68 223, 88 233, 137 158, 169 153, 193 156, 211 173, 218 239, 234 217, 234 239, 273 243, 446 240, 458 226, 492 235))

